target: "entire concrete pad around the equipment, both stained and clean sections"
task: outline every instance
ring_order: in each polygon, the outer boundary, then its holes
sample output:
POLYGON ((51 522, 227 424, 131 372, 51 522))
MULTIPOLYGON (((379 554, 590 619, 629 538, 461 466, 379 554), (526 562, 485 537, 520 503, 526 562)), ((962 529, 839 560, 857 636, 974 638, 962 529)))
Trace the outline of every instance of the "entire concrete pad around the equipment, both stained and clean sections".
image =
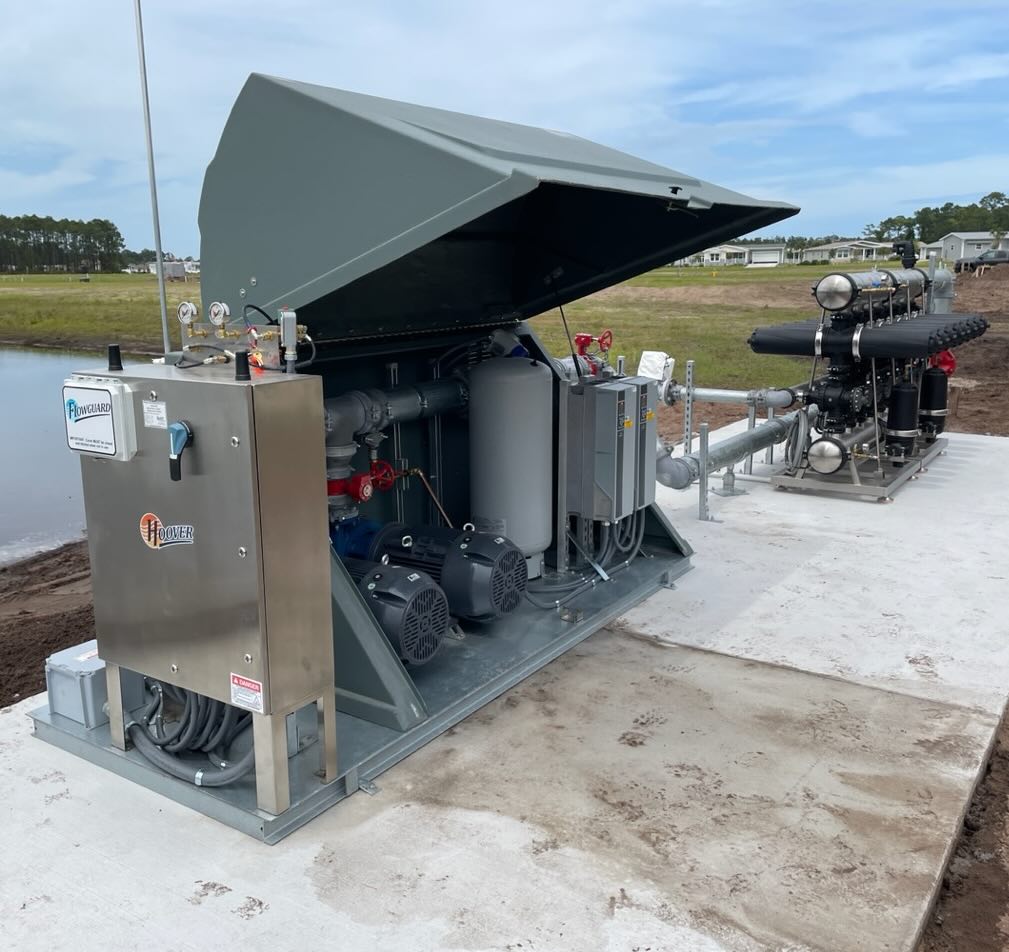
POLYGON ((273 847, 0 711, 5 945, 913 949, 1009 682, 1007 464, 955 435, 892 505, 758 482, 718 523, 661 491, 676 591, 273 847))

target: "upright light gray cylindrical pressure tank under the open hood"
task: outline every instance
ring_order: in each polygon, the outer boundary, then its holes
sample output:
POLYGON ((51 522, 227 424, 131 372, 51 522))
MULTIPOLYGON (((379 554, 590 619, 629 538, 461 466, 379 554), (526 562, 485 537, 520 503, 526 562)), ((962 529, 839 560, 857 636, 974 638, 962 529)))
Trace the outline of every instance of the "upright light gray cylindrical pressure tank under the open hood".
POLYGON ((553 538, 553 374, 528 357, 497 357, 469 374, 470 519, 504 536, 542 572, 553 538))

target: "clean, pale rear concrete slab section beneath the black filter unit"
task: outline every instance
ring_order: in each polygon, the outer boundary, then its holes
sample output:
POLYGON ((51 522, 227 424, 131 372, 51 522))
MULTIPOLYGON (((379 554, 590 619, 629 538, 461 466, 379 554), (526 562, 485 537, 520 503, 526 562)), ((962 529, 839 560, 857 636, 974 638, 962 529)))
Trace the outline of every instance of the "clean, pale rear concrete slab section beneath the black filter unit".
POLYGON ((719 521, 701 522, 696 488, 660 487, 695 569, 625 621, 682 644, 1001 714, 1009 509, 993 479, 1007 470, 1009 439, 951 434, 948 455, 890 504, 740 480, 749 494, 712 495, 719 521))

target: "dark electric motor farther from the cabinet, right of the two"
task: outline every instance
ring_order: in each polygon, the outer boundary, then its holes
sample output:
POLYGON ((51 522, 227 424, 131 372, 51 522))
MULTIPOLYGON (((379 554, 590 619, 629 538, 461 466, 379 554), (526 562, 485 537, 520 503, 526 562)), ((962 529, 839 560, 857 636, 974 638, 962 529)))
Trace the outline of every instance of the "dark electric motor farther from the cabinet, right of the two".
POLYGON ((374 537, 368 558, 427 572, 441 585, 452 614, 491 621, 515 611, 526 591, 526 558, 503 536, 399 522, 374 537))

